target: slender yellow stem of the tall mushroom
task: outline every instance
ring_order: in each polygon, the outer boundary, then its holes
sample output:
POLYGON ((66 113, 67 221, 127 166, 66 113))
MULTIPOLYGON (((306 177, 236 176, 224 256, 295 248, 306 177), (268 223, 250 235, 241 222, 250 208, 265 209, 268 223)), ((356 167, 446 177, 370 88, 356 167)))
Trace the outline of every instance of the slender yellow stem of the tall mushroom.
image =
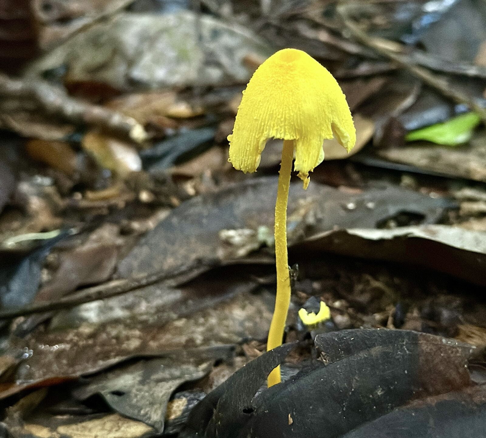
MULTIPOLYGON (((282 162, 278 176, 277 203, 275 204, 275 259, 277 265, 277 297, 268 332, 267 351, 282 344, 285 320, 290 304, 290 276, 287 256, 287 200, 290 174, 294 159, 294 140, 283 140, 282 162)), ((268 376, 268 386, 280 383, 280 366, 268 376)))

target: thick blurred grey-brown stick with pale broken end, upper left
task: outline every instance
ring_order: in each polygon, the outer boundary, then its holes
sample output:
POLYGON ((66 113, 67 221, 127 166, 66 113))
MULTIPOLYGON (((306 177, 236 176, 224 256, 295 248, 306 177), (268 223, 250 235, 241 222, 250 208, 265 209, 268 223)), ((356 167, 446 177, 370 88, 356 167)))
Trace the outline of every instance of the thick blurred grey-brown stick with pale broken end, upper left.
POLYGON ((80 102, 61 88, 41 80, 19 80, 0 73, 0 96, 19 100, 31 100, 42 114, 56 116, 74 124, 96 126, 104 131, 128 136, 131 140, 147 140, 147 132, 132 117, 104 108, 80 102))

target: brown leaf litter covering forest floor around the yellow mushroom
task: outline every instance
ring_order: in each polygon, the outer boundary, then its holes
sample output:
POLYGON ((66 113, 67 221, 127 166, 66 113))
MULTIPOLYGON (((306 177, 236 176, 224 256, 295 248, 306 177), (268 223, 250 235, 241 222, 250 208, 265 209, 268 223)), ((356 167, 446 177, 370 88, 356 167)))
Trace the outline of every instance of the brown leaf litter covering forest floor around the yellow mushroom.
POLYGON ((44 53, 0 76, 0 125, 28 138, 0 154, 1 433, 480 436, 484 129, 452 149, 443 127, 484 120, 484 8, 127 5, 36 3, 44 53), (338 78, 359 147, 291 185, 286 344, 265 353, 281 145, 250 177, 226 137, 286 46, 338 78), (305 326, 321 300, 331 319, 305 326))

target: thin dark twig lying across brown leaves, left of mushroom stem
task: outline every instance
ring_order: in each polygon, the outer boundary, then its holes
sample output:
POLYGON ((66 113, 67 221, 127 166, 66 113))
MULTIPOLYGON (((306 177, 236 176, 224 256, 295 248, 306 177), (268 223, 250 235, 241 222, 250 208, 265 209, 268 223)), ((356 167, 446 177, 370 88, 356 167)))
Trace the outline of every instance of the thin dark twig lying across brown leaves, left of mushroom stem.
POLYGON ((112 280, 97 286, 87 287, 67 297, 58 298, 55 301, 37 302, 20 309, 9 309, 0 312, 0 320, 12 319, 17 316, 33 315, 53 310, 67 309, 69 307, 84 304, 98 299, 115 297, 134 289, 150 286, 162 280, 174 280, 172 286, 185 283, 206 272, 219 262, 216 260, 197 260, 190 265, 178 267, 172 271, 157 272, 134 279, 112 280))

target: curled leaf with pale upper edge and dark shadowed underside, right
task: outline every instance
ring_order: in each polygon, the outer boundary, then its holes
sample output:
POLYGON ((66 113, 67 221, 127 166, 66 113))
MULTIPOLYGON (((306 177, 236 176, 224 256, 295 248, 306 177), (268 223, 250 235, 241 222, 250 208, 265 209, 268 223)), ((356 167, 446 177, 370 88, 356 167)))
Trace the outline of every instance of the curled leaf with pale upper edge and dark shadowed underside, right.
POLYGON ((295 251, 419 265, 486 285, 486 245, 481 231, 447 225, 337 230, 317 234, 295 251))

